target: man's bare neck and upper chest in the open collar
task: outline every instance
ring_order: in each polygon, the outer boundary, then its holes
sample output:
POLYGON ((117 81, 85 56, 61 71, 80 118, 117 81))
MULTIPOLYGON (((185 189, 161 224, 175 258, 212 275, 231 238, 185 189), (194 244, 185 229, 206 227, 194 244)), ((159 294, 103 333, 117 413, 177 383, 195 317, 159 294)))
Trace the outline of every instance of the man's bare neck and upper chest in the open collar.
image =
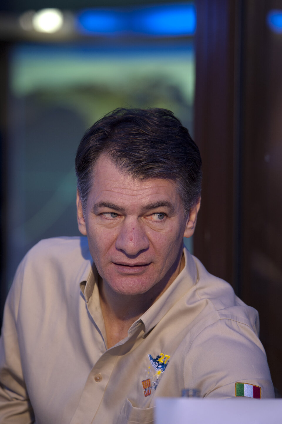
POLYGON ((143 315, 154 302, 168 289, 185 265, 181 252, 179 259, 171 267, 164 279, 146 293, 133 296, 116 293, 102 279, 99 282, 99 295, 102 315, 105 322, 108 349, 127 336, 131 325, 143 315))

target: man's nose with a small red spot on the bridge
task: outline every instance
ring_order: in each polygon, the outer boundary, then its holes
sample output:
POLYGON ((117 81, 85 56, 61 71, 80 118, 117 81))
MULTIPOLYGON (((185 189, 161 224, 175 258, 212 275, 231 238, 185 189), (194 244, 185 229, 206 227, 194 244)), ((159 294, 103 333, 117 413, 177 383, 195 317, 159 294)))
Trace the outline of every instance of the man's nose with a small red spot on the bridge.
POLYGON ((120 227, 115 247, 128 256, 136 256, 140 251, 148 249, 149 240, 142 223, 126 218, 120 227))

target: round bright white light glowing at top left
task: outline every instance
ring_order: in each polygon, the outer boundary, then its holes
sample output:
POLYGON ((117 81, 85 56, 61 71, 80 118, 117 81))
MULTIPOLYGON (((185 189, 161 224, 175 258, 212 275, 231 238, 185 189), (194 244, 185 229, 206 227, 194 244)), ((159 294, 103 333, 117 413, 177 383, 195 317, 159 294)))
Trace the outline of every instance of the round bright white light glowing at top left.
POLYGON ((32 23, 39 32, 56 32, 63 25, 63 14, 59 9, 42 9, 34 14, 32 23))

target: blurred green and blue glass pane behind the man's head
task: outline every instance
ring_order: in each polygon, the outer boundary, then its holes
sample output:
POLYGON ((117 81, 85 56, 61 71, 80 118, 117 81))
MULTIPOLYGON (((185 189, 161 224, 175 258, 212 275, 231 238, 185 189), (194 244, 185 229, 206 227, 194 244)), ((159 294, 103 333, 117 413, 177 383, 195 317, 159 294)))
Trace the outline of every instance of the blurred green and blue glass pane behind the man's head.
MULTIPOLYGON (((37 241, 78 235, 75 151, 117 107, 172 110, 193 135, 193 45, 18 45, 11 55, 8 281, 37 241)), ((192 246, 190 245, 190 248, 192 246)))

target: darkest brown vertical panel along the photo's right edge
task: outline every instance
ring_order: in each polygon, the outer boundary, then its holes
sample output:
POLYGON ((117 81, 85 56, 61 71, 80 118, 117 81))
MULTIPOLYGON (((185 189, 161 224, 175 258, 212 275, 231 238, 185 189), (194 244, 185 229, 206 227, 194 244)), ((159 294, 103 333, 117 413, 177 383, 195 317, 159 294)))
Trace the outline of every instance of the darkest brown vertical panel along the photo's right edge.
POLYGON ((260 313, 260 338, 282 393, 282 34, 266 15, 280 0, 245 3, 242 209, 243 301, 260 313))

